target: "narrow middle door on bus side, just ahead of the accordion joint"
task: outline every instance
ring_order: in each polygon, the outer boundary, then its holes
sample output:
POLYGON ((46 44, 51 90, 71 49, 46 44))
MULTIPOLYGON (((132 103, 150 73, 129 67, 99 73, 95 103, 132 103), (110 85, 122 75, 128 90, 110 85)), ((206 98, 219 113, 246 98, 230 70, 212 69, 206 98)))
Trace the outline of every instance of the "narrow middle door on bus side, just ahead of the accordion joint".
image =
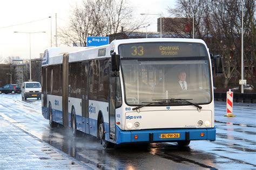
POLYGON ((89 134, 89 63, 83 63, 82 67, 82 117, 83 132, 89 134))

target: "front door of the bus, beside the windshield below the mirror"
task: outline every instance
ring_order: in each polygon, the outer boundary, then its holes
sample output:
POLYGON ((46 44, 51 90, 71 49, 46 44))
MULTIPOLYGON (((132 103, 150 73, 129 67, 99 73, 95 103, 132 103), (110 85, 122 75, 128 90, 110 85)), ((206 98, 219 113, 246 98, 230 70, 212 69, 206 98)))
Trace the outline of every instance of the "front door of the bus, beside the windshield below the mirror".
MULTIPOLYGON (((111 68, 111 67, 110 67, 111 68)), ((110 74, 109 86, 109 129, 110 139, 116 141, 116 91, 117 91, 117 76, 110 74)))

